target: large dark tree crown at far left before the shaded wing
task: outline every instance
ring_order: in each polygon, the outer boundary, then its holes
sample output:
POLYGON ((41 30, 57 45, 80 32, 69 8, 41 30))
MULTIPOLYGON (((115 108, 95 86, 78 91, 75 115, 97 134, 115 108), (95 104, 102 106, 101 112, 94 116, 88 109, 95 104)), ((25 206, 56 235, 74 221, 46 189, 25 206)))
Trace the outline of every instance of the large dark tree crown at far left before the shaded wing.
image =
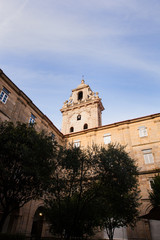
POLYGON ((52 138, 33 126, 0 123, 0 231, 9 214, 47 190, 55 151, 52 138))

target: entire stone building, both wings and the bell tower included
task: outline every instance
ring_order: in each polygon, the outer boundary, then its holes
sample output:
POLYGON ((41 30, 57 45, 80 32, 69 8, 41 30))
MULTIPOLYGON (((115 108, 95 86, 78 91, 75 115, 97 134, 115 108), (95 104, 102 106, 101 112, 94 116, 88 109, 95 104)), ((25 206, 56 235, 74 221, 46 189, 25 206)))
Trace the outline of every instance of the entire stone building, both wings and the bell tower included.
MULTIPOLYGON (((160 171, 160 113, 102 126, 101 112, 104 107, 101 99, 98 93, 92 92, 82 80, 81 84, 72 90, 69 101, 66 101, 61 109, 63 115, 61 133, 2 71, 0 71, 0 94, 1 121, 36 121, 38 131, 44 129, 46 132, 52 132, 61 145, 66 142, 81 147, 92 144, 107 146, 110 142, 125 145, 126 151, 135 159, 139 169, 141 215, 150 211, 148 200, 150 181, 155 173, 160 171), (4 95, 2 96, 2 92, 6 94, 7 101, 4 95)), ((30 235, 36 212, 41 207, 41 201, 29 202, 20 209, 16 219, 14 221, 12 219, 12 227, 11 218, 8 220, 4 231, 18 231, 30 235)), ((153 226, 153 222, 141 220, 134 231, 127 229, 125 238, 128 236, 128 238, 151 239, 153 226)), ((42 236, 48 234, 48 229, 43 224, 42 236)), ((123 239, 122 235, 121 238, 123 239)))

